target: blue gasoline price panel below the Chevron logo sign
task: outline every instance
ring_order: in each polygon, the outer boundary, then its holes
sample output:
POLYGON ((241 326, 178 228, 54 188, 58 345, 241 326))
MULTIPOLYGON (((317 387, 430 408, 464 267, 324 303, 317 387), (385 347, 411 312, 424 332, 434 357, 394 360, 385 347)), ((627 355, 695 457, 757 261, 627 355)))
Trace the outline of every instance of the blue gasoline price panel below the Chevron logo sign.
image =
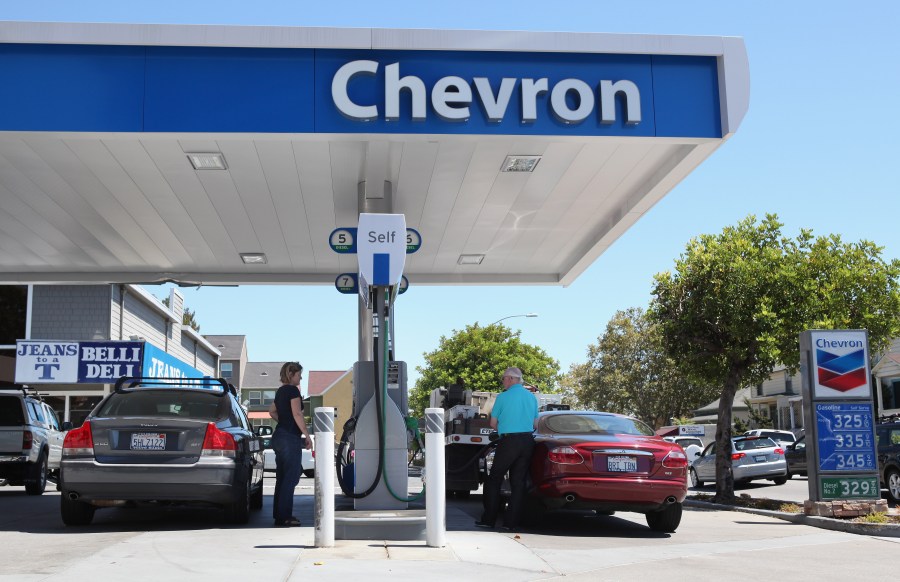
MULTIPOLYGON (((876 470, 871 404, 816 403, 815 414, 820 471, 838 473, 876 470)), ((845 477, 840 479, 853 481, 845 477)), ((825 479, 822 483, 824 491, 825 479)), ((859 486, 861 486, 859 483, 855 485, 859 486)), ((877 494, 877 491, 875 493, 877 494)))

